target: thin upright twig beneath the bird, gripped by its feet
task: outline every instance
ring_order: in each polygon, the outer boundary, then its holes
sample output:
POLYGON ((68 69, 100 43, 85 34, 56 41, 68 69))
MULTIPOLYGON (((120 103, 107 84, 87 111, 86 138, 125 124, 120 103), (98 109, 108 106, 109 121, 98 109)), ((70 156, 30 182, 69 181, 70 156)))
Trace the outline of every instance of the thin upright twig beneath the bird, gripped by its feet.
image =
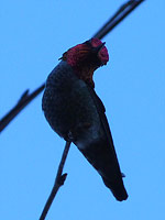
POLYGON ((64 168, 64 164, 65 164, 65 161, 66 161, 66 157, 67 157, 67 154, 68 154, 68 151, 69 151, 69 147, 70 147, 70 142, 66 142, 65 144, 65 148, 64 148, 64 152, 63 152, 63 156, 62 156, 62 160, 61 160, 61 163, 59 163, 59 166, 58 166, 58 170, 57 170, 57 175, 56 175, 56 178, 55 178, 55 183, 54 183, 54 186, 53 186, 53 189, 51 191, 51 195, 45 204, 45 207, 44 207, 44 210, 40 217, 40 220, 44 220, 50 208, 51 208, 51 205, 59 189, 61 186, 64 185, 64 182, 66 179, 66 176, 67 174, 63 174, 63 168, 64 168))

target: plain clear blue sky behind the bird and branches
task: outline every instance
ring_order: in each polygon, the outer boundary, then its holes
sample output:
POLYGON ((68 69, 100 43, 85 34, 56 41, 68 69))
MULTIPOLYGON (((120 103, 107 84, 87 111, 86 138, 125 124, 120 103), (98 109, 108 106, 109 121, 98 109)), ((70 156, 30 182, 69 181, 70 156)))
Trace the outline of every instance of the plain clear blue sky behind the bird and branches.
MULTIPOLYGON (((91 37, 123 0, 2 0, 0 116, 43 84, 69 47, 91 37)), ((110 62, 95 74, 129 199, 117 201, 72 145, 47 220, 165 219, 165 1, 147 0, 103 41, 110 62)), ((65 142, 41 109, 42 95, 0 135, 0 219, 36 220, 65 142)))

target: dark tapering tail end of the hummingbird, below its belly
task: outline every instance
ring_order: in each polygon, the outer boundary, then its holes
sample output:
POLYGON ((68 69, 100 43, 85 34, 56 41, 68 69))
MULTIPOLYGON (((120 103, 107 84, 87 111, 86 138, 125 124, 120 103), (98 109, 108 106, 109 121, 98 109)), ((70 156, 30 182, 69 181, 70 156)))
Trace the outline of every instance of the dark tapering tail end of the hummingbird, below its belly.
POLYGON ((79 148, 88 162, 97 169, 102 177, 105 185, 112 191, 117 200, 122 201, 128 198, 128 193, 123 185, 123 174, 120 170, 117 155, 103 140, 90 144, 87 148, 79 148))

